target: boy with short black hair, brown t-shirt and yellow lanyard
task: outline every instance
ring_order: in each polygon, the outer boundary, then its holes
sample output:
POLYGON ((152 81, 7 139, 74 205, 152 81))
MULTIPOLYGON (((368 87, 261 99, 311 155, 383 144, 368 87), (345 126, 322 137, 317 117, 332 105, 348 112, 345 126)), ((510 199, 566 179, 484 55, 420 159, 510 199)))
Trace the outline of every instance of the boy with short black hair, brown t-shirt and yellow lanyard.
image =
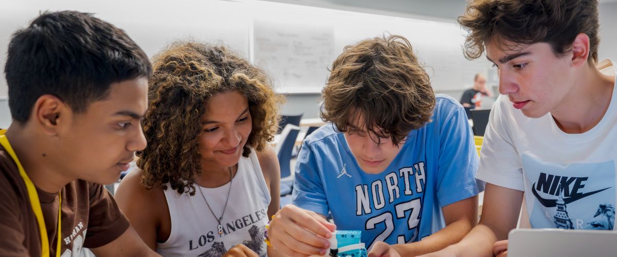
POLYGON ((44 13, 12 36, 0 256, 156 255, 101 185, 146 146, 151 70, 124 31, 90 14, 44 13))

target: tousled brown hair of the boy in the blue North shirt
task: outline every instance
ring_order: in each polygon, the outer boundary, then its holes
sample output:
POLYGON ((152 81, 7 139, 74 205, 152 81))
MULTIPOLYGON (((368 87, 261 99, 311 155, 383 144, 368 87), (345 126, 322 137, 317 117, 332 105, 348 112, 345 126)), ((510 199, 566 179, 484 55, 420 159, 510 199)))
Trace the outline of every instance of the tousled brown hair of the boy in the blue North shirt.
POLYGON ((397 35, 346 46, 332 64, 322 98, 321 118, 339 131, 353 127, 362 115, 365 122, 358 129, 378 136, 376 142, 391 137, 395 145, 431 121, 436 102, 411 44, 397 35))

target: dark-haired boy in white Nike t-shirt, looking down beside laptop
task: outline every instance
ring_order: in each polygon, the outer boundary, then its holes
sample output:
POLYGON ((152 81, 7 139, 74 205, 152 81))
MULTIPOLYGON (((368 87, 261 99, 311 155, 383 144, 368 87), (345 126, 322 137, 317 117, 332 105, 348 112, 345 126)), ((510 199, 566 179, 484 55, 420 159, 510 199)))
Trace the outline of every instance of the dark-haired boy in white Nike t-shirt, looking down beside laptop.
POLYGON ((500 96, 476 177, 482 219, 436 256, 505 256, 521 202, 533 228, 609 229, 615 223, 615 67, 598 63, 595 0, 474 1, 458 22, 466 57, 486 51, 500 96), (501 241, 500 241, 501 240, 501 241))

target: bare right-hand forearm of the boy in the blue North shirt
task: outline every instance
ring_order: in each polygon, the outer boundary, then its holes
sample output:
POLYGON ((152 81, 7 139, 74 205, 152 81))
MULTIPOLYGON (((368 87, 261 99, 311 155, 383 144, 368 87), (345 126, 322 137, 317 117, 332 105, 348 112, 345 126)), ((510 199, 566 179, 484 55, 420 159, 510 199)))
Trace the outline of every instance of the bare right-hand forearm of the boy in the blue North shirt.
POLYGON ((439 251, 449 245, 459 242, 469 232, 475 222, 468 219, 460 219, 445 226, 444 229, 429 235, 421 241, 414 243, 400 243, 392 245, 401 256, 416 256, 439 251))

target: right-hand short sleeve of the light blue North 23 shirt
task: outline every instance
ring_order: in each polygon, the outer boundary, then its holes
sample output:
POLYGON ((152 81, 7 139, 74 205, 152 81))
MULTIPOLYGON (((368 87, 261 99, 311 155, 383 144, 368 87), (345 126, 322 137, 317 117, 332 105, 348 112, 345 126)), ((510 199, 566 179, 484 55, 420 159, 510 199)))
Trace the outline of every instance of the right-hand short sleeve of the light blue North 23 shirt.
POLYGON ((440 145, 437 167, 437 200, 444 207, 484 190, 475 179, 478 153, 465 110, 444 100, 439 110, 440 145))

